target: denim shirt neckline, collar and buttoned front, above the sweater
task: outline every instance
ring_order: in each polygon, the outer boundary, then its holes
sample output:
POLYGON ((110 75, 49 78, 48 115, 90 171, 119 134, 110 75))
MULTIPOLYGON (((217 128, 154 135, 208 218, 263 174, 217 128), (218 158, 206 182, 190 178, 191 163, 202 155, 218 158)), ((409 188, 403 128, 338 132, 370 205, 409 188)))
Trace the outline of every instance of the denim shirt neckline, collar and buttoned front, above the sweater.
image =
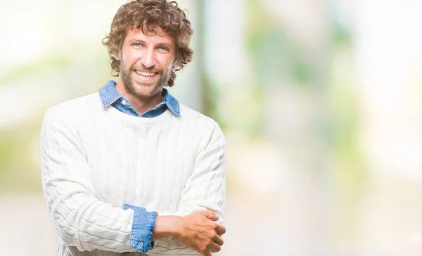
POLYGON ((139 115, 138 112, 132 107, 129 100, 125 99, 115 88, 116 82, 113 80, 108 81, 106 86, 98 90, 98 93, 101 97, 101 102, 103 102, 103 107, 108 107, 112 105, 116 109, 120 110, 120 112, 132 115, 132 116, 139 116, 139 117, 147 117, 152 118, 156 116, 160 116, 160 114, 164 113, 167 108, 175 114, 176 116, 180 117, 180 106, 179 102, 172 96, 170 93, 165 89, 162 88, 162 100, 158 105, 149 109, 145 113, 139 115))

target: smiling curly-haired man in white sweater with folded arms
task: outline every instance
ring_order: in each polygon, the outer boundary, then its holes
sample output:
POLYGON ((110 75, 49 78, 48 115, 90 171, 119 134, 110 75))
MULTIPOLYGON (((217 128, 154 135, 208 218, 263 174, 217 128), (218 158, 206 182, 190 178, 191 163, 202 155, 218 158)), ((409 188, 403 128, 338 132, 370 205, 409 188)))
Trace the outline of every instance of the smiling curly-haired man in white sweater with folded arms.
POLYGON ((220 250, 224 135, 163 88, 191 60, 192 34, 174 1, 124 4, 103 40, 117 83, 46 112, 41 177, 59 256, 220 250))

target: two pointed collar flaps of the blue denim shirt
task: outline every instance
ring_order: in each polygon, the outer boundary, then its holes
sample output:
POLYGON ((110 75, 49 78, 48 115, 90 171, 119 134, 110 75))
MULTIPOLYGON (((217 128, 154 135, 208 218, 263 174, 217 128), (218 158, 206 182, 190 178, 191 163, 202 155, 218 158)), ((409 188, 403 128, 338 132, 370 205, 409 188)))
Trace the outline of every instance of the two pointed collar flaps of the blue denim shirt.
MULTIPOLYGON (((103 107, 108 107, 112 105, 114 102, 116 102, 119 99, 124 99, 124 97, 116 90, 116 82, 113 80, 108 81, 103 88, 98 90, 98 93, 101 97, 101 102, 103 102, 103 107)), ((174 98, 167 89, 162 88, 162 100, 159 105, 167 105, 167 107, 170 109, 170 111, 175 114, 176 116, 180 117, 180 106, 179 102, 174 98)), ((127 99, 125 99, 127 100, 127 99)))

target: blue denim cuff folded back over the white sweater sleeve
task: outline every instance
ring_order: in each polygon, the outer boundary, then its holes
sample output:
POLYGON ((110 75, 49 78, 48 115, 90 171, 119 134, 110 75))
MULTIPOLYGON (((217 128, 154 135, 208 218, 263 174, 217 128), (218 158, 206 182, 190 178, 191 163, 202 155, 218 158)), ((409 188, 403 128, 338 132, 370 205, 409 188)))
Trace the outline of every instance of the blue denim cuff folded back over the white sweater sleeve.
POLYGON ((134 210, 134 222, 130 234, 130 246, 137 252, 148 252, 154 248, 154 242, 151 242, 157 212, 147 212, 145 208, 124 205, 124 210, 134 210))

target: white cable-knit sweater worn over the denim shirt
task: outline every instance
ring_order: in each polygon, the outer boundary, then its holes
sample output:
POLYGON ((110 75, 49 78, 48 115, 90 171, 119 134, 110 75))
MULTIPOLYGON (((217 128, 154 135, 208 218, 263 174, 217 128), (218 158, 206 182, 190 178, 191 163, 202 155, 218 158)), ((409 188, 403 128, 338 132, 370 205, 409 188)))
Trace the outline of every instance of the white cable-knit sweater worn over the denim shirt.
MULTIPOLYGON (((181 106, 155 118, 104 108, 98 93, 46 112, 41 177, 59 236, 58 256, 143 255, 129 245, 134 211, 188 215, 211 209, 222 222, 226 143, 207 116, 181 106)), ((198 255, 174 238, 148 255, 198 255)))

